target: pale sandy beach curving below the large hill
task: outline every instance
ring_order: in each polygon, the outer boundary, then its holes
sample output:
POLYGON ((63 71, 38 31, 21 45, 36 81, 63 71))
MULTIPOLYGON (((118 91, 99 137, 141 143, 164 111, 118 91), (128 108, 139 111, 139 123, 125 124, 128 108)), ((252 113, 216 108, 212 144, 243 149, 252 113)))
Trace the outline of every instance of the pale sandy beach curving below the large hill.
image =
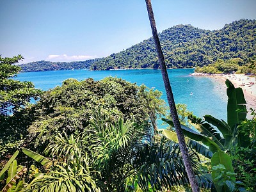
MULTIPOLYGON (((246 100, 246 108, 249 111, 250 108, 256 109, 256 76, 248 76, 244 74, 202 74, 193 73, 191 76, 205 76, 212 77, 220 80, 225 84, 225 80, 231 81, 236 88, 241 87, 243 89, 244 98, 246 100)), ((250 113, 250 111, 249 111, 250 113)), ((250 114, 248 113, 248 116, 250 114)))

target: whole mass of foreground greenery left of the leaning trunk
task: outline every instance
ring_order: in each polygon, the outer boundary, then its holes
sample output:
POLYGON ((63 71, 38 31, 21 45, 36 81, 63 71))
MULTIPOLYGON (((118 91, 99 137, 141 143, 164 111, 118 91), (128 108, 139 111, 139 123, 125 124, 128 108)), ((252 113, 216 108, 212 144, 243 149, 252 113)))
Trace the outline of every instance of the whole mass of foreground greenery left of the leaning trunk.
MULTIPOLYGON (((0 63, 5 83, 12 80, 6 72, 19 72, 12 64, 20 59, 0 63)), ((160 96, 144 85, 113 77, 67 79, 40 94, 36 104, 20 103, 13 113, 1 113, 1 189, 148 191, 188 186, 179 145, 154 139, 153 122, 165 111, 160 96)), ((11 101, 1 109, 14 106, 11 101)), ((189 156, 197 170, 200 159, 193 150, 189 156)))

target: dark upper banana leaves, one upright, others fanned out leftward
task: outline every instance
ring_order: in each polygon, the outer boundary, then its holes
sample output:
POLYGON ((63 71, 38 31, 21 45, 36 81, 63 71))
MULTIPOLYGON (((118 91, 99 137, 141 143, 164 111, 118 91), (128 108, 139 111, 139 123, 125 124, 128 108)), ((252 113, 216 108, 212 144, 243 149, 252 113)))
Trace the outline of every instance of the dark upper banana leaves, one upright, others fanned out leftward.
POLYGON ((227 122, 218 120, 211 115, 205 115, 204 120, 189 116, 189 120, 195 125, 195 128, 205 136, 212 138, 223 151, 229 150, 232 145, 248 147, 250 144, 249 135, 239 131, 239 124, 245 120, 247 113, 243 90, 235 88, 228 79, 226 85, 228 95, 227 122), (220 132, 222 136, 220 136, 220 132))

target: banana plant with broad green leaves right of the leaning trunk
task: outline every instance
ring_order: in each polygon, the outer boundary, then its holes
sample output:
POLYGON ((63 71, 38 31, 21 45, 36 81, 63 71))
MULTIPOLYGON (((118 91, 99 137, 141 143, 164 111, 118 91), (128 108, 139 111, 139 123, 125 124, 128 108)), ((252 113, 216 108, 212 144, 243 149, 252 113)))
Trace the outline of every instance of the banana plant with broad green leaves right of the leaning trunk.
MULTIPOLYGON (((193 129, 184 125, 182 126, 182 131, 191 140, 200 141, 209 147, 209 150, 214 153, 211 158, 212 167, 220 164, 225 167, 225 172, 235 174, 234 168, 232 167, 232 161, 225 152, 234 145, 237 145, 238 147, 248 147, 250 144, 249 135, 239 131, 239 124, 246 118, 246 100, 244 99, 243 90, 241 88, 235 88, 234 84, 228 79, 225 83, 227 85, 228 96, 227 122, 222 119, 218 120, 211 115, 205 115, 204 120, 191 115, 188 116, 188 119, 198 132, 193 131, 193 129)), ((163 121, 173 126, 172 120, 163 119, 163 121)), ((175 132, 174 134, 168 130, 162 132, 164 136, 171 140, 175 137, 175 132), (171 133, 172 137, 170 137, 171 133)), ((198 150, 196 151, 200 152, 198 150)), ((200 154, 205 156, 205 153, 202 153, 202 151, 200 154)), ((212 170, 212 179, 217 191, 230 191, 230 188, 227 188, 227 186, 223 186, 218 182, 218 177, 216 170, 212 170)), ((231 179, 235 180, 234 177, 231 179)))

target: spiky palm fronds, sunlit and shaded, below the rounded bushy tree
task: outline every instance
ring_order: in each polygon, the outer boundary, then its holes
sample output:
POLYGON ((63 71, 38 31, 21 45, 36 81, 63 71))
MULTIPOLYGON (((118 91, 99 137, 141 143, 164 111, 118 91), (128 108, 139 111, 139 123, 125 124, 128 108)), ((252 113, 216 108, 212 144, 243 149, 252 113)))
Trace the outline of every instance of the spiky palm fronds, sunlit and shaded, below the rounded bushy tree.
MULTIPOLYGON (((100 111, 81 134, 58 134, 45 148, 52 166, 35 175, 33 191, 148 191, 188 184, 179 145, 154 142, 132 121, 100 111)), ((194 168, 198 156, 189 154, 194 168)))

